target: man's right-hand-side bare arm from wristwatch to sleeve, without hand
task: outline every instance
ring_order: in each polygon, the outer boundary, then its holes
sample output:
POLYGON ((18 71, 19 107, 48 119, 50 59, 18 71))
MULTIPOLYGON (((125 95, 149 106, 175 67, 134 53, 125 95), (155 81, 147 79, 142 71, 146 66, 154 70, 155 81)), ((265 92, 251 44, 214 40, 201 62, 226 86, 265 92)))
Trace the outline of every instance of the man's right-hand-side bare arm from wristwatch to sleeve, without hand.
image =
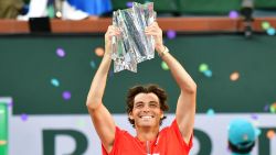
POLYGON ((170 53, 166 53, 161 58, 167 63, 181 89, 177 103, 176 119, 184 142, 189 143, 194 124, 197 85, 170 53))

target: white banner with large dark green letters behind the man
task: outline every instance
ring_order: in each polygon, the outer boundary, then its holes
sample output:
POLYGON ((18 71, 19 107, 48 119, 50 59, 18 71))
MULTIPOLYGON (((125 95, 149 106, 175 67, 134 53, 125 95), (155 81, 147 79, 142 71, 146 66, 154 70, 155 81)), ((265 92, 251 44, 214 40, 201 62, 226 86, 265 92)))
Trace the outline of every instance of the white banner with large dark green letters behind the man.
MULTIPOLYGON (((275 155, 276 136, 267 139, 269 130, 276 130, 272 114, 258 114, 262 131, 252 155, 275 155), (268 145, 262 145, 268 144, 268 145)), ((194 128, 194 144, 191 155, 226 155, 227 124, 232 119, 251 119, 250 114, 198 114, 194 128)), ((126 114, 114 114, 118 126, 135 134, 126 114)), ((169 114, 162 126, 174 119, 169 114)), ((100 142, 88 114, 66 115, 10 115, 10 155, 100 155, 100 142)))

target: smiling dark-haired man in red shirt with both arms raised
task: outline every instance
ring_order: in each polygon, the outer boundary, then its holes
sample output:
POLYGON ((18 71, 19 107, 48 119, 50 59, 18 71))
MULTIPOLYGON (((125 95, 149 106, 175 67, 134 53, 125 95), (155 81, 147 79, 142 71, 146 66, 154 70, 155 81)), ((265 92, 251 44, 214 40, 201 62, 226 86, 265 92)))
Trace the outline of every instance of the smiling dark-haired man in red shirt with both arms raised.
POLYGON ((155 85, 137 86, 128 93, 128 117, 136 137, 115 125, 112 114, 103 104, 106 79, 110 67, 112 37, 120 35, 115 26, 105 34, 105 55, 92 81, 86 106, 102 141, 103 155, 188 155, 192 146, 195 115, 197 85, 162 43, 162 30, 155 22, 145 30, 155 38, 155 48, 181 89, 176 120, 159 131, 163 111, 168 110, 167 96, 155 85))

